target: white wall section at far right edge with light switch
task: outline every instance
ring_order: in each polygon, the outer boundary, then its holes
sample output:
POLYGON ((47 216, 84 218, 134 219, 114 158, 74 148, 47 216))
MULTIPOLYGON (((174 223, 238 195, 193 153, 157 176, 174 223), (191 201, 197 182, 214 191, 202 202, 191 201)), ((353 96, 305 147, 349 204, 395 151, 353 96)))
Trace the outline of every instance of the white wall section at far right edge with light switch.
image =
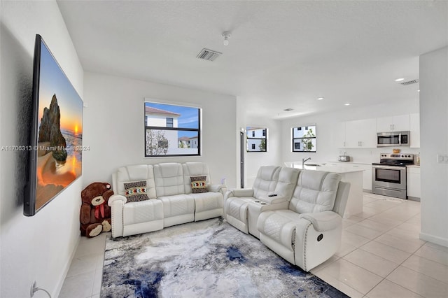
POLYGON ((420 56, 420 88, 420 237, 448 246, 448 47, 420 56))

